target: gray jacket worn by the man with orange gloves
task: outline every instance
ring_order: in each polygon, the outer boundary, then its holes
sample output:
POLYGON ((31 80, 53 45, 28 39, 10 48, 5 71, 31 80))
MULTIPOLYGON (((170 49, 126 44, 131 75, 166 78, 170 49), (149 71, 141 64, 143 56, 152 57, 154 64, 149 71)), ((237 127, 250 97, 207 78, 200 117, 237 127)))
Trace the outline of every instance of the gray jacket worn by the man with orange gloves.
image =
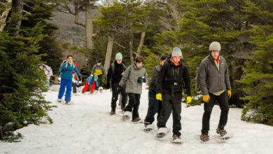
POLYGON ((219 56, 219 71, 211 55, 202 60, 198 73, 198 85, 202 94, 231 90, 228 65, 224 57, 219 56))

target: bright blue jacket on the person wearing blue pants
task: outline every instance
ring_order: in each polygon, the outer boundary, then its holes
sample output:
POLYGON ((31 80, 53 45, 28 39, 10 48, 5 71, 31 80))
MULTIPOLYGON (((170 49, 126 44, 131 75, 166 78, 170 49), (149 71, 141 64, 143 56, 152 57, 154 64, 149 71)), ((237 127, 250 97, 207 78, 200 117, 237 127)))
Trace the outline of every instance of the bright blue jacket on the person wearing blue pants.
POLYGON ((81 76, 75 64, 68 63, 66 69, 65 69, 65 66, 66 66, 66 62, 64 62, 64 64, 62 64, 62 66, 59 67, 59 73, 61 73, 61 78, 72 79, 73 70, 76 71, 78 76, 81 76))

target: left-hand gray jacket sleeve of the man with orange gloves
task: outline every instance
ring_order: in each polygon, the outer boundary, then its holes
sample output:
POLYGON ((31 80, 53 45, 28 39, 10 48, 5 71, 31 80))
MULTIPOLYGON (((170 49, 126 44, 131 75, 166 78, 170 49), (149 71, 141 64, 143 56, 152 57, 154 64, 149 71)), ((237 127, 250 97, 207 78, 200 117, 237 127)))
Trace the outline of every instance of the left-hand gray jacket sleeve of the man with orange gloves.
POLYGON ((201 62, 198 73, 198 85, 202 91, 202 94, 209 94, 207 87, 207 67, 205 62, 201 62))

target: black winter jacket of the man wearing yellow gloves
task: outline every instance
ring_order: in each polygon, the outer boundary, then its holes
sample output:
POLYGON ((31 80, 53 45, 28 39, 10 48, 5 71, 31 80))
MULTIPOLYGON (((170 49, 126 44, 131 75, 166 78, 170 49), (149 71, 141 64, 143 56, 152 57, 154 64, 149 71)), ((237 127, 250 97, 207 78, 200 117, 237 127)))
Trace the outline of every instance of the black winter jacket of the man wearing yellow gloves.
POLYGON ((188 68, 181 62, 176 66, 170 59, 162 66, 158 76, 157 93, 172 94, 182 93, 183 88, 186 88, 186 94, 190 92, 190 74, 188 68))

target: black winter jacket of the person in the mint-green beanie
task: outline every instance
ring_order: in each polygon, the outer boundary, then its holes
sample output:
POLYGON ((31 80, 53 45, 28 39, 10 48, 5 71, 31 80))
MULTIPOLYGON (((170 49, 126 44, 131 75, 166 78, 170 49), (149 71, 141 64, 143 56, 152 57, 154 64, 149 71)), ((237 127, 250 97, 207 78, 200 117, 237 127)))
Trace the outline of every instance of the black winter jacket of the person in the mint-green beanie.
POLYGON ((125 64, 121 63, 118 64, 115 60, 113 64, 108 69, 107 73, 107 85, 110 86, 110 82, 113 83, 120 83, 121 78, 123 78, 123 73, 126 70, 125 64), (114 71, 114 72, 113 72, 114 71))

